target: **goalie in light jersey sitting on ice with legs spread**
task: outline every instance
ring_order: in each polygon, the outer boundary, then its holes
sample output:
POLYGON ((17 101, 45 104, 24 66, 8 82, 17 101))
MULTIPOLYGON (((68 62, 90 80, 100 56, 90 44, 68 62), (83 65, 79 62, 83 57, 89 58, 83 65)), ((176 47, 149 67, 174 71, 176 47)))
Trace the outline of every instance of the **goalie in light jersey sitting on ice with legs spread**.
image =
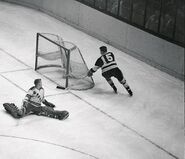
POLYGON ((69 116, 67 111, 54 110, 55 105, 44 98, 44 89, 42 88, 41 79, 35 79, 34 85, 35 86, 28 90, 21 109, 13 103, 4 103, 3 106, 5 110, 15 118, 35 114, 63 120, 69 116), (41 103, 45 106, 41 106, 41 103))

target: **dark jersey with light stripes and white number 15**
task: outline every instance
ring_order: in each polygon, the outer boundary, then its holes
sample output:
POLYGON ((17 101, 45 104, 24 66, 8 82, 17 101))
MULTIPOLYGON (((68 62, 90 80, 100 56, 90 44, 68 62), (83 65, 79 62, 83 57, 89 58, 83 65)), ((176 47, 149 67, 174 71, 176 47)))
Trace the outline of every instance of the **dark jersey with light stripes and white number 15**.
POLYGON ((115 57, 112 52, 107 52, 97 59, 95 67, 93 67, 93 71, 97 71, 99 68, 102 69, 102 73, 107 72, 113 68, 117 68, 115 57))

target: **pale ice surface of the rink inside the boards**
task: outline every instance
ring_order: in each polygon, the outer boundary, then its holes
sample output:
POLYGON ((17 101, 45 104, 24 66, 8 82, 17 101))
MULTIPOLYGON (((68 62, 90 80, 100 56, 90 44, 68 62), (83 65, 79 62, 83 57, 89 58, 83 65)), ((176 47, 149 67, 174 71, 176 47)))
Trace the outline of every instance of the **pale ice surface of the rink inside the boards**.
POLYGON ((37 32, 75 43, 89 67, 103 42, 44 13, 0 2, 0 104, 21 105, 35 78, 46 98, 68 110, 69 119, 28 116, 20 120, 0 109, 2 159, 183 159, 184 84, 108 46, 133 89, 129 97, 116 81, 118 95, 98 71, 87 91, 57 90, 34 71, 37 32))

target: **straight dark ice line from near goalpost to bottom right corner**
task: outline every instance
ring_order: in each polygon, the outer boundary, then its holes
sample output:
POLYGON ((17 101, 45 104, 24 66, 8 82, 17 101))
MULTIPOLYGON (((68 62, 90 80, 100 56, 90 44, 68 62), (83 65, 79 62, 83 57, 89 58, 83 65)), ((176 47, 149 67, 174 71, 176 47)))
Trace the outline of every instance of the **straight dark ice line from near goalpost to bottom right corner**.
POLYGON ((109 115, 108 113, 104 112, 103 110, 101 110, 100 108, 94 106, 93 104, 89 103, 88 101, 86 101, 85 99, 81 98, 80 96, 76 95, 75 93, 69 91, 72 95, 74 95, 75 97, 79 98, 80 100, 82 100, 83 102, 87 103, 88 105, 90 105, 91 107, 93 107, 94 109, 96 109, 97 111, 101 112, 102 114, 106 115, 107 117, 109 117, 110 119, 114 120, 115 122, 119 123, 121 126, 127 128, 128 130, 130 130, 131 132, 134 132, 136 135, 138 135, 139 137, 143 138, 144 140, 146 140, 147 142, 151 143, 152 145, 154 145, 155 147, 159 148, 160 150, 164 151, 165 153, 167 153, 168 155, 170 155, 171 157, 175 158, 175 159, 180 159, 179 157, 175 156, 174 154, 172 154, 171 152, 167 151, 166 149, 164 149, 163 147, 161 147, 160 145, 156 144, 155 142, 153 142, 152 140, 148 139, 147 137, 145 137, 144 135, 140 134, 139 132, 137 132, 136 130, 134 130, 133 128, 127 126, 126 124, 122 123, 121 121, 119 121, 118 119, 114 118, 113 116, 109 115))

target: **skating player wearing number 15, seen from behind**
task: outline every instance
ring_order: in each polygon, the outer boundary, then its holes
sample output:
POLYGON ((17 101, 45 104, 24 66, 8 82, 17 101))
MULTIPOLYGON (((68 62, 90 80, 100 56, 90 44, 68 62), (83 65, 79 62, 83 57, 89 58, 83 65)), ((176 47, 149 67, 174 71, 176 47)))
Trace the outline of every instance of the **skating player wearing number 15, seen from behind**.
POLYGON ((118 68, 115 61, 114 54, 112 52, 107 52, 106 46, 101 46, 100 48, 101 57, 99 57, 95 63, 95 66, 91 68, 88 72, 88 76, 92 76, 99 68, 102 69, 102 76, 106 79, 109 85, 113 88, 114 92, 117 93, 117 88, 114 85, 111 77, 115 77, 124 86, 130 96, 133 95, 129 85, 126 82, 121 70, 118 68))

